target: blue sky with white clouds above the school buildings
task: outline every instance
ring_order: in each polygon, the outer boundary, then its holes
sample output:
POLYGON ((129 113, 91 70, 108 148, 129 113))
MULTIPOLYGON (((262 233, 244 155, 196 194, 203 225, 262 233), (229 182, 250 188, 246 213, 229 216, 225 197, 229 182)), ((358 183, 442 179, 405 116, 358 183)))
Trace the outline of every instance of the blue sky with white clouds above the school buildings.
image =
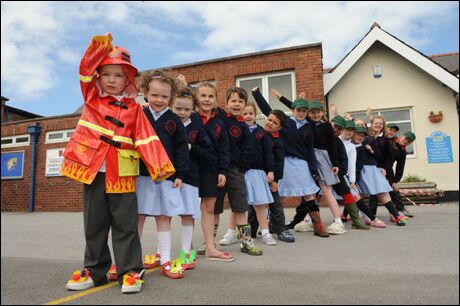
POLYGON ((318 42, 329 68, 374 21, 425 55, 459 50, 457 1, 2 1, 1 94, 42 116, 74 112, 81 56, 106 32, 140 71, 318 42))

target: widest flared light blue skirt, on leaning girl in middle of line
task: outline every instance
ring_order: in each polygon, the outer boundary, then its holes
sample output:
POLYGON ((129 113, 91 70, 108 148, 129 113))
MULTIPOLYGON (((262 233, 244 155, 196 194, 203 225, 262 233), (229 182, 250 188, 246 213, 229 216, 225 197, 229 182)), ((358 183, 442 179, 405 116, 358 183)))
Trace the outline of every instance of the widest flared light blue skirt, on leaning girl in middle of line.
POLYGON ((280 197, 301 197, 318 191, 319 187, 310 174, 308 163, 298 157, 285 157, 283 178, 278 182, 280 197))

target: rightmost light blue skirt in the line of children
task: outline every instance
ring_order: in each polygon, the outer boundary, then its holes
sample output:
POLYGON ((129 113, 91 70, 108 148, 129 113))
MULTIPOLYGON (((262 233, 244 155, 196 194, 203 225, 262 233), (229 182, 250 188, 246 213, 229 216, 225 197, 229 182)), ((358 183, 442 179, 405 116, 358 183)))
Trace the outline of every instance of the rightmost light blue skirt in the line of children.
POLYGON ((367 195, 390 192, 393 190, 377 166, 363 166, 361 177, 357 184, 361 193, 367 195))

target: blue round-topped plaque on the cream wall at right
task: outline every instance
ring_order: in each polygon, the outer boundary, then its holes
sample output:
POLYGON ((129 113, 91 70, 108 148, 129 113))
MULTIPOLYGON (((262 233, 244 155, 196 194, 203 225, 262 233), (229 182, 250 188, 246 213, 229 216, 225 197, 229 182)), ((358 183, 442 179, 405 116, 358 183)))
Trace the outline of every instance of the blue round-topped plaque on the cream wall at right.
POLYGON ((452 143, 450 136, 436 131, 426 138, 426 150, 429 164, 452 163, 452 143))

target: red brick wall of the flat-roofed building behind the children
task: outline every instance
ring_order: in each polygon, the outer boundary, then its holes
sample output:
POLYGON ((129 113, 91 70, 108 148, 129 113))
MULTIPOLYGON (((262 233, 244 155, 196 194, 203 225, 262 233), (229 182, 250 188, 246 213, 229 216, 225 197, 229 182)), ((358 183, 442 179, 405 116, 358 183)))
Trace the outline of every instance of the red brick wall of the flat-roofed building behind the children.
MULTIPOLYGON (((254 74, 293 70, 297 92, 306 92, 306 98, 324 103, 321 45, 276 53, 259 54, 212 63, 193 64, 172 68, 185 75, 189 82, 215 80, 218 101, 224 104, 225 92, 236 84, 236 78, 254 74)), ((40 118, 2 124, 2 137, 27 134, 27 126, 38 122, 41 126, 36 156, 35 211, 81 211, 83 184, 65 177, 46 177, 46 150, 64 148, 67 143, 45 144, 48 131, 75 128, 79 115, 40 118)), ((27 211, 29 206, 31 146, 2 149, 2 152, 25 151, 24 178, 2 180, 1 210, 27 211)), ((298 199, 286 199, 286 206, 295 206, 298 199)))

